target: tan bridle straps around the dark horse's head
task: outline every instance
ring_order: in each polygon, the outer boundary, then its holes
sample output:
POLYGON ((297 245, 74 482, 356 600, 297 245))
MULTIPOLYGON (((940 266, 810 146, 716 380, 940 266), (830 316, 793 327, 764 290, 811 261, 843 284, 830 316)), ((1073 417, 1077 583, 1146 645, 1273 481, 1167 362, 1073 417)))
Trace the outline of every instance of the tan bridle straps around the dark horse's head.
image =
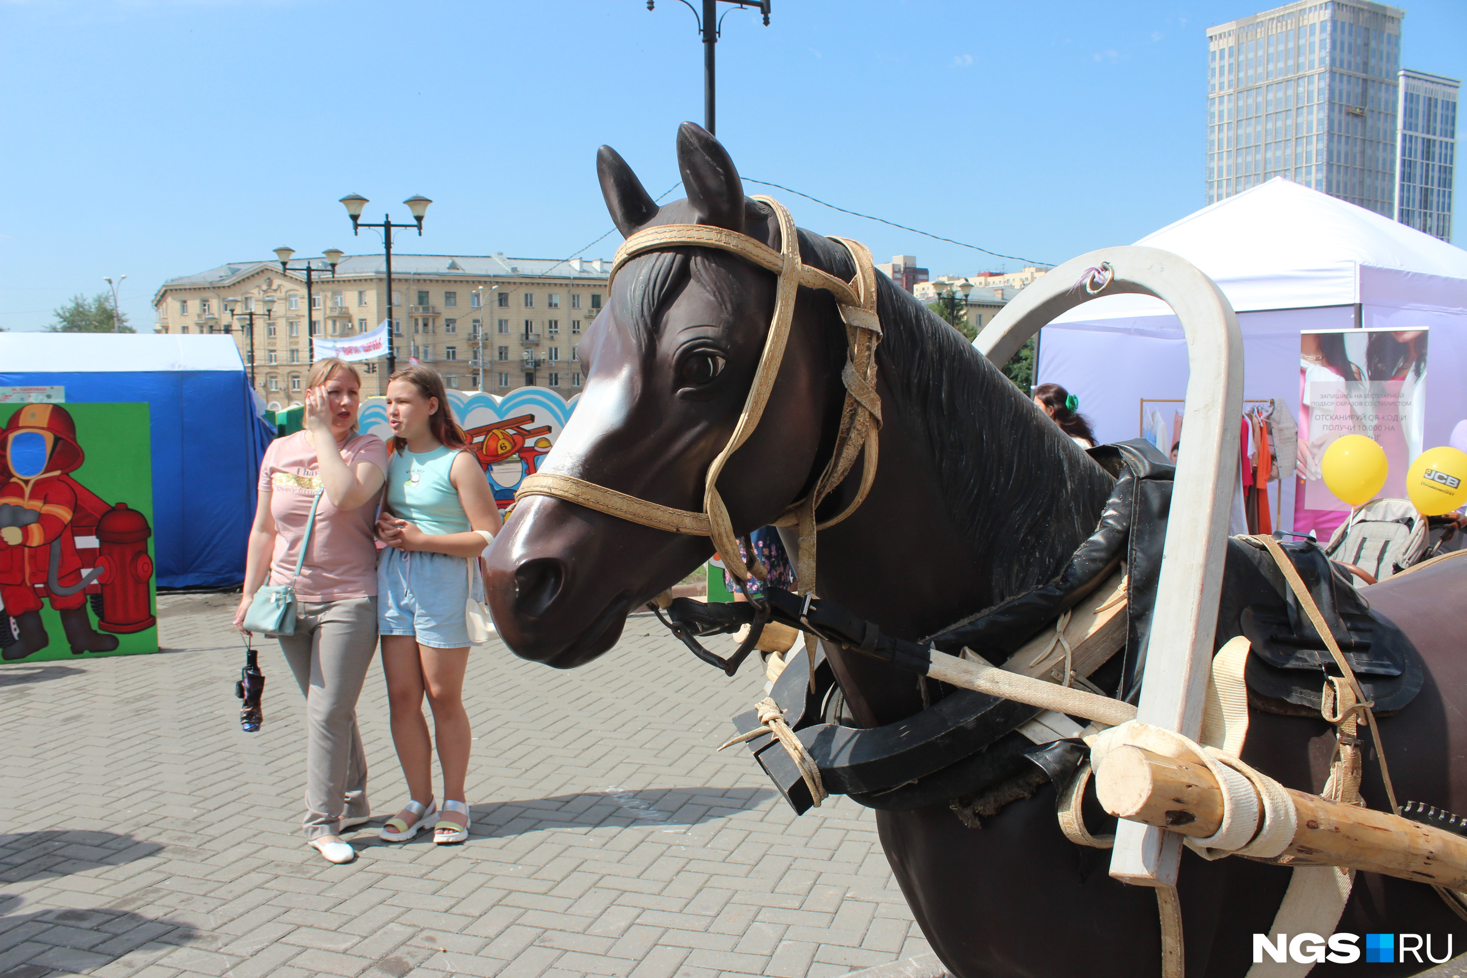
POLYGON ((640 230, 622 242, 612 264, 612 279, 615 279, 622 265, 650 251, 688 246, 716 248, 739 255, 779 276, 775 311, 770 317, 769 336, 764 340, 758 368, 754 372, 754 383, 750 386, 734 434, 709 465, 703 491, 703 512, 694 513, 650 503, 585 479, 553 472, 527 477, 515 496, 516 499, 555 496, 644 526, 675 534, 711 537, 729 573, 741 581, 747 581, 751 575, 763 578, 764 567, 757 560, 753 560, 750 566, 739 556, 738 538, 734 534, 723 497, 719 496, 717 481, 729 457, 748 440, 763 418, 764 406, 769 403, 769 394, 785 358, 800 287, 826 289, 835 296, 846 330, 848 355, 845 367, 841 369, 846 397, 841 411, 841 427, 836 433, 835 452, 816 481, 816 488, 805 499, 791 504, 776 521, 779 526, 792 525, 800 529, 798 589, 808 592, 816 587, 816 531, 833 526, 855 512, 866 500, 871 482, 876 481, 877 431, 882 425, 882 399, 876 391, 876 346, 882 339, 882 324, 876 314, 876 265, 871 261, 871 252, 864 245, 842 238, 833 240, 841 242, 851 252, 857 268, 855 279, 846 283, 805 265, 800 260, 800 233, 789 211, 769 196, 754 196, 753 199, 761 201, 775 213, 779 223, 779 251, 725 227, 660 224, 640 230), (816 507, 845 479, 855 465, 857 456, 863 452, 866 463, 855 499, 838 516, 817 525, 816 507))

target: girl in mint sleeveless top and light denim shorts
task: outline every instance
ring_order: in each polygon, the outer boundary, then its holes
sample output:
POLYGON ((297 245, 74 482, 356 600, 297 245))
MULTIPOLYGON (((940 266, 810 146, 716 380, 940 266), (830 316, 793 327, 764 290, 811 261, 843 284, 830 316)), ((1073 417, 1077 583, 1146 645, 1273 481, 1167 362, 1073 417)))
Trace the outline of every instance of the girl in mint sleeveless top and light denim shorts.
POLYGON ((464 710, 468 669, 469 597, 483 600, 478 556, 499 532, 500 518, 484 469, 465 452, 437 371, 414 365, 387 383, 392 427, 387 509, 377 519, 383 550, 377 565, 381 603, 381 666, 392 707, 392 740, 408 782, 408 805, 381 830, 387 842, 434 828, 433 840, 468 839, 471 733, 464 710), (433 708, 434 736, 422 718, 433 708), (433 745, 443 768, 443 806, 433 801, 433 745))

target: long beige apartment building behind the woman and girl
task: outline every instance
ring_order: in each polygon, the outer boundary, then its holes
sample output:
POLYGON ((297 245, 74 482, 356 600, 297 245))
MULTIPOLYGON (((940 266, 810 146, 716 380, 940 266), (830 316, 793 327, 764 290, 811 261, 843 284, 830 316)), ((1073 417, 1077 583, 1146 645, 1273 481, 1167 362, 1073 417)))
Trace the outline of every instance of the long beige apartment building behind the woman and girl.
MULTIPOLYGON (((389 318, 381 255, 346 255, 334 268, 311 260, 310 301, 304 265, 242 261, 170 279, 153 298, 154 328, 232 334, 266 403, 299 403, 314 337, 368 333, 389 318)), ((395 254, 396 362, 415 358, 450 389, 538 386, 572 397, 582 381, 581 336, 601 309, 609 273, 603 260, 395 254)), ((364 396, 384 391, 386 356, 358 368, 364 396)))

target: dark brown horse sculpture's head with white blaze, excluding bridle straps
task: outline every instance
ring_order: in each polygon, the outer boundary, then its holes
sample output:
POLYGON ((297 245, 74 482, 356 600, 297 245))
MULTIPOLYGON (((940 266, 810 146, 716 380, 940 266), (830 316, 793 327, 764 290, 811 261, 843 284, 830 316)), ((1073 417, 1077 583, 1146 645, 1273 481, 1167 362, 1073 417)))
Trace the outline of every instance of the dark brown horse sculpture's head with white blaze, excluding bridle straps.
MULTIPOLYGON (((709 224, 780 246, 770 208, 744 196, 723 147, 678 130, 688 196, 659 207, 610 147, 597 154, 606 207, 623 236, 659 224, 709 224)), ((801 235, 802 261, 848 279, 839 246, 801 235)), ((541 466, 682 510, 703 510, 704 479, 728 444, 754 380, 776 276, 725 251, 670 246, 621 267, 585 333, 585 389, 541 466)), ((845 339, 835 302, 801 289, 764 421, 719 478, 735 532, 773 522, 829 455, 839 419, 845 339)), ((616 644, 626 614, 713 554, 676 535, 549 496, 521 500, 489 554, 489 601, 519 655, 562 669, 616 644)))

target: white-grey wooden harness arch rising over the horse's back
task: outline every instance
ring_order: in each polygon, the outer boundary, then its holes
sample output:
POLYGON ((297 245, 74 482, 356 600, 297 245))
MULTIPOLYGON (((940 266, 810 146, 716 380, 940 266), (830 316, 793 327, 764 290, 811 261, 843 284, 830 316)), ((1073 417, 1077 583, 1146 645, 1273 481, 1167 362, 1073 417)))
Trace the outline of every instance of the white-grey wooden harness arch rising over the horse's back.
MULTIPOLYGON (((1187 450, 1178 456, 1137 720, 1196 739, 1238 478, 1243 334, 1232 305, 1185 258, 1156 248, 1102 248, 1071 258, 1021 290, 993 317, 974 346, 993 364, 1003 365, 1059 314, 1124 292, 1156 296, 1169 305, 1187 337, 1191 371, 1182 422, 1187 450), (1109 282, 1102 286, 1103 265, 1109 267, 1109 282)), ((1125 362, 1099 367, 1125 371, 1125 362)), ((1175 886, 1179 861, 1181 836, 1122 821, 1111 855, 1111 875, 1127 883, 1175 886)))

